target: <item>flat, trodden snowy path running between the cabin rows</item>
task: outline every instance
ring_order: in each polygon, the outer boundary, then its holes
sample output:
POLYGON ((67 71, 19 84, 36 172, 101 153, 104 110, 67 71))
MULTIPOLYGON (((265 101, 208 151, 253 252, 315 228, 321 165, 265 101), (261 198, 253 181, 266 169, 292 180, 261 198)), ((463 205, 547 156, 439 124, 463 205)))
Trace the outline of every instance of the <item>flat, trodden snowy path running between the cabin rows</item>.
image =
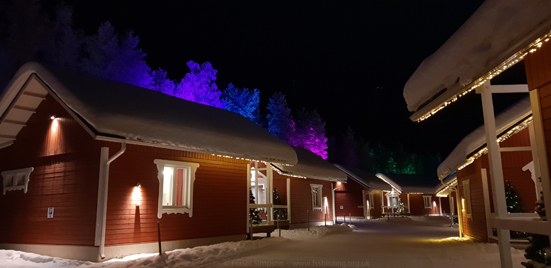
MULTIPOLYGON (((209 267, 499 267, 497 245, 445 239, 457 236, 451 227, 431 223, 353 223, 357 231, 320 238, 297 238, 209 267), (315 263, 314 263, 315 262, 315 263)), ((523 251, 513 250, 514 267, 522 267, 523 251)))

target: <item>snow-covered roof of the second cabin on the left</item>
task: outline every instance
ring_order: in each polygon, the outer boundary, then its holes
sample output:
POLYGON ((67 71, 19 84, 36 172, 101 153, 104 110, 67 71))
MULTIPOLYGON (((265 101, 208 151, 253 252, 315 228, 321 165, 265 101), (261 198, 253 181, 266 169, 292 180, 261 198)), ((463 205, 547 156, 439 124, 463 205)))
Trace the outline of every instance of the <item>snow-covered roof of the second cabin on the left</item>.
POLYGON ((289 167, 272 163, 281 174, 315 178, 324 181, 346 181, 346 174, 324 160, 321 156, 299 147, 293 147, 297 153, 298 163, 289 167))

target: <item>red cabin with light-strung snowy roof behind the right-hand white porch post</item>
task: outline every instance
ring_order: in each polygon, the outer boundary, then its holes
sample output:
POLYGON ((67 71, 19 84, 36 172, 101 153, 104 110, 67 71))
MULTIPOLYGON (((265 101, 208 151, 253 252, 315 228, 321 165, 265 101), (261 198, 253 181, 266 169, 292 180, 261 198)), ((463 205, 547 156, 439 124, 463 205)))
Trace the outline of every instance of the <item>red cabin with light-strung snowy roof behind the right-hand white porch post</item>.
MULTIPOLYGON (((530 149, 533 135, 530 99, 525 98, 496 116, 497 138, 505 185, 510 183, 525 213, 534 212, 541 184, 537 183, 530 149), (528 120, 530 118, 530 120, 528 120)), ((438 168, 439 176, 457 171, 463 234, 483 241, 497 237, 488 221, 495 218, 484 125, 466 136, 438 168)), ((534 152, 535 153, 535 152, 534 152)))

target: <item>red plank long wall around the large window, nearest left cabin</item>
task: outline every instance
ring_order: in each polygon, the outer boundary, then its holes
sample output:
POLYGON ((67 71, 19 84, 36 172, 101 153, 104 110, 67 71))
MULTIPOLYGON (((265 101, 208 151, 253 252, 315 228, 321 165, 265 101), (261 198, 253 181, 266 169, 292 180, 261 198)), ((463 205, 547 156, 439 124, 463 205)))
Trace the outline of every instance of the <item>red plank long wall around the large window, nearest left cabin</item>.
MULTIPOLYGON (((110 147, 118 143, 98 142, 110 147)), ((245 212, 249 196, 247 161, 179 150, 127 145, 126 152, 110 167, 105 245, 152 243, 161 239, 185 240, 216 236, 245 236, 245 212), (198 163, 194 184, 193 217, 163 214, 158 219, 157 167, 155 159, 198 163), (134 205, 132 192, 141 183, 141 205, 134 205)))

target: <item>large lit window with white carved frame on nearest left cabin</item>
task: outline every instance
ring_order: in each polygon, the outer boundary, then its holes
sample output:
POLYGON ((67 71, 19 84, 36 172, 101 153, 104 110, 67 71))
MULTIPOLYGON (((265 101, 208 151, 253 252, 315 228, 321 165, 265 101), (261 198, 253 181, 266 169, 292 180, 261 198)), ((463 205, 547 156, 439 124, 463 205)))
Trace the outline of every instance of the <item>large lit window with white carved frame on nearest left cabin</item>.
POLYGON ((193 216, 197 163, 155 159, 159 180, 158 218, 163 214, 187 213, 193 216))

